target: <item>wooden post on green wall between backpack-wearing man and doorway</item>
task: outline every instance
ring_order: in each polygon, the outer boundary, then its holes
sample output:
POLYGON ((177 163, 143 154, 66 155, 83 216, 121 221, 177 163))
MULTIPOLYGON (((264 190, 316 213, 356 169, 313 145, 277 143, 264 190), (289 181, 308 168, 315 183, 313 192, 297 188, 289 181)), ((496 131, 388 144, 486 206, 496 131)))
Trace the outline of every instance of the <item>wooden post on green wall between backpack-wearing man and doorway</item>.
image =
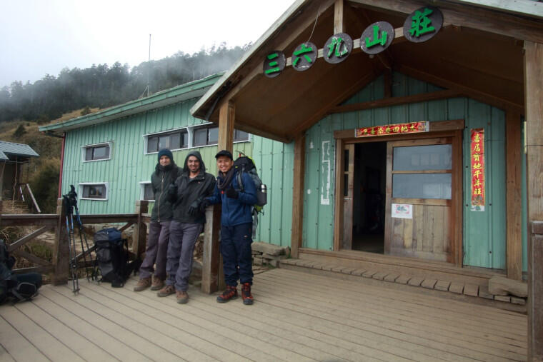
POLYGON ((302 246, 304 228, 304 175, 305 175, 305 135, 294 141, 294 180, 292 191, 292 232, 290 254, 298 258, 298 248, 302 246))

